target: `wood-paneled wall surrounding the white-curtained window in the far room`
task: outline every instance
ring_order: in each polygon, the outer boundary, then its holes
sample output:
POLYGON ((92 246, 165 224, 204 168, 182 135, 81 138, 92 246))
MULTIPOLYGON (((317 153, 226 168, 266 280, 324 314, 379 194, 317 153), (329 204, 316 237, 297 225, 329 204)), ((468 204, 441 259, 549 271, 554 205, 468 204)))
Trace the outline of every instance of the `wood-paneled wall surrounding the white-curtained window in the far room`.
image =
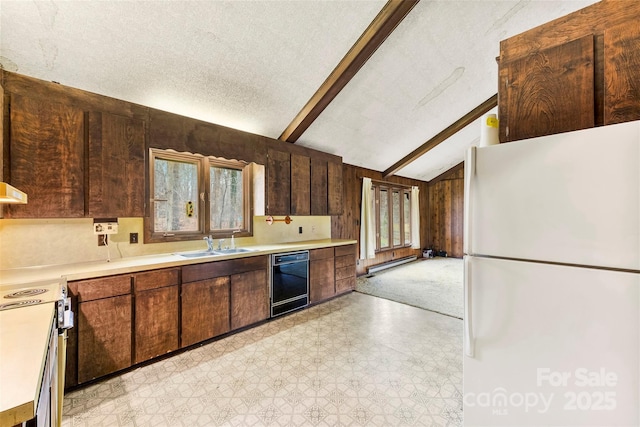
MULTIPOLYGON (((420 189, 420 242, 421 248, 426 247, 428 239, 428 210, 429 197, 428 188, 425 181, 415 179, 390 177, 382 178, 382 172, 365 169, 358 166, 348 164, 342 165, 342 181, 343 181, 343 200, 344 209, 342 215, 334 215, 331 217, 331 237, 335 239, 354 239, 360 240, 360 204, 362 201, 362 178, 367 177, 377 181, 388 181, 403 185, 415 185, 420 189)), ((360 247, 358 246, 358 254, 360 247)), ((358 275, 366 274, 367 267, 381 264, 408 255, 422 256, 421 249, 402 248, 380 252, 374 259, 358 260, 356 264, 356 272, 358 275)))

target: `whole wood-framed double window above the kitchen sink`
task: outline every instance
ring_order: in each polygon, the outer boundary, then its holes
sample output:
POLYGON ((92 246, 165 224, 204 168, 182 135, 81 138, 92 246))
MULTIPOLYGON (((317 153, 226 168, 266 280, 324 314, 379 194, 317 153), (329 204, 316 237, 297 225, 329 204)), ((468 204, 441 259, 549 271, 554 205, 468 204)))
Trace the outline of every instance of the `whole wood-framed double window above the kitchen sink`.
POLYGON ((251 165, 151 149, 148 240, 251 235, 251 165))

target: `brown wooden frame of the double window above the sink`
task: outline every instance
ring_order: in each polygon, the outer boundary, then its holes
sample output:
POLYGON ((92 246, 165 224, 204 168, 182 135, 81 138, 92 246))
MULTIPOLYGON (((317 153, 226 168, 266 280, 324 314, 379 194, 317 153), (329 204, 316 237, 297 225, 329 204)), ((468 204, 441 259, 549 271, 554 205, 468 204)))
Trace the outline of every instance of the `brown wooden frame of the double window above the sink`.
POLYGON ((149 149, 148 165, 149 183, 149 212, 145 216, 145 242, 174 242, 186 240, 198 240, 206 236, 214 238, 230 238, 253 236, 253 173, 251 163, 240 160, 228 160, 213 156, 203 156, 200 154, 179 153, 174 150, 163 150, 157 148, 149 149), (155 160, 162 159, 168 161, 187 162, 197 164, 197 187, 198 187, 198 229, 196 231, 155 231, 155 206, 161 201, 155 200, 155 160), (210 167, 221 167, 227 169, 237 169, 242 171, 242 193, 243 193, 243 222, 241 228, 231 228, 223 230, 211 229, 211 192, 210 192, 210 167), (233 233, 236 230, 235 233, 233 233))

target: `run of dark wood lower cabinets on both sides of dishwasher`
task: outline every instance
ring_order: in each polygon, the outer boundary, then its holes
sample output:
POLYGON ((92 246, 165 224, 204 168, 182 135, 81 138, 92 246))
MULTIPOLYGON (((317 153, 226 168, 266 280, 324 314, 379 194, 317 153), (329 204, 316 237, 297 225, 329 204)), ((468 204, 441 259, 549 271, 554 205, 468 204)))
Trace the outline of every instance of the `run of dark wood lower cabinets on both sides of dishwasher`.
MULTIPOLYGON (((263 255, 70 282, 66 386, 268 319, 268 267, 263 255)), ((355 245, 310 251, 311 302, 354 286, 355 245)))

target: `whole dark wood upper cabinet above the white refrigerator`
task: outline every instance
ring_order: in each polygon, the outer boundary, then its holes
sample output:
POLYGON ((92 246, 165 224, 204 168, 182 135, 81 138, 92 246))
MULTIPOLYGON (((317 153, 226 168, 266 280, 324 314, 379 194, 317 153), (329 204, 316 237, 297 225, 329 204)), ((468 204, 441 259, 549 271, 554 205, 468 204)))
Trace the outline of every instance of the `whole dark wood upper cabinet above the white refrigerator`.
POLYGON ((640 119, 639 19, 600 1, 500 41, 500 142, 640 119))

